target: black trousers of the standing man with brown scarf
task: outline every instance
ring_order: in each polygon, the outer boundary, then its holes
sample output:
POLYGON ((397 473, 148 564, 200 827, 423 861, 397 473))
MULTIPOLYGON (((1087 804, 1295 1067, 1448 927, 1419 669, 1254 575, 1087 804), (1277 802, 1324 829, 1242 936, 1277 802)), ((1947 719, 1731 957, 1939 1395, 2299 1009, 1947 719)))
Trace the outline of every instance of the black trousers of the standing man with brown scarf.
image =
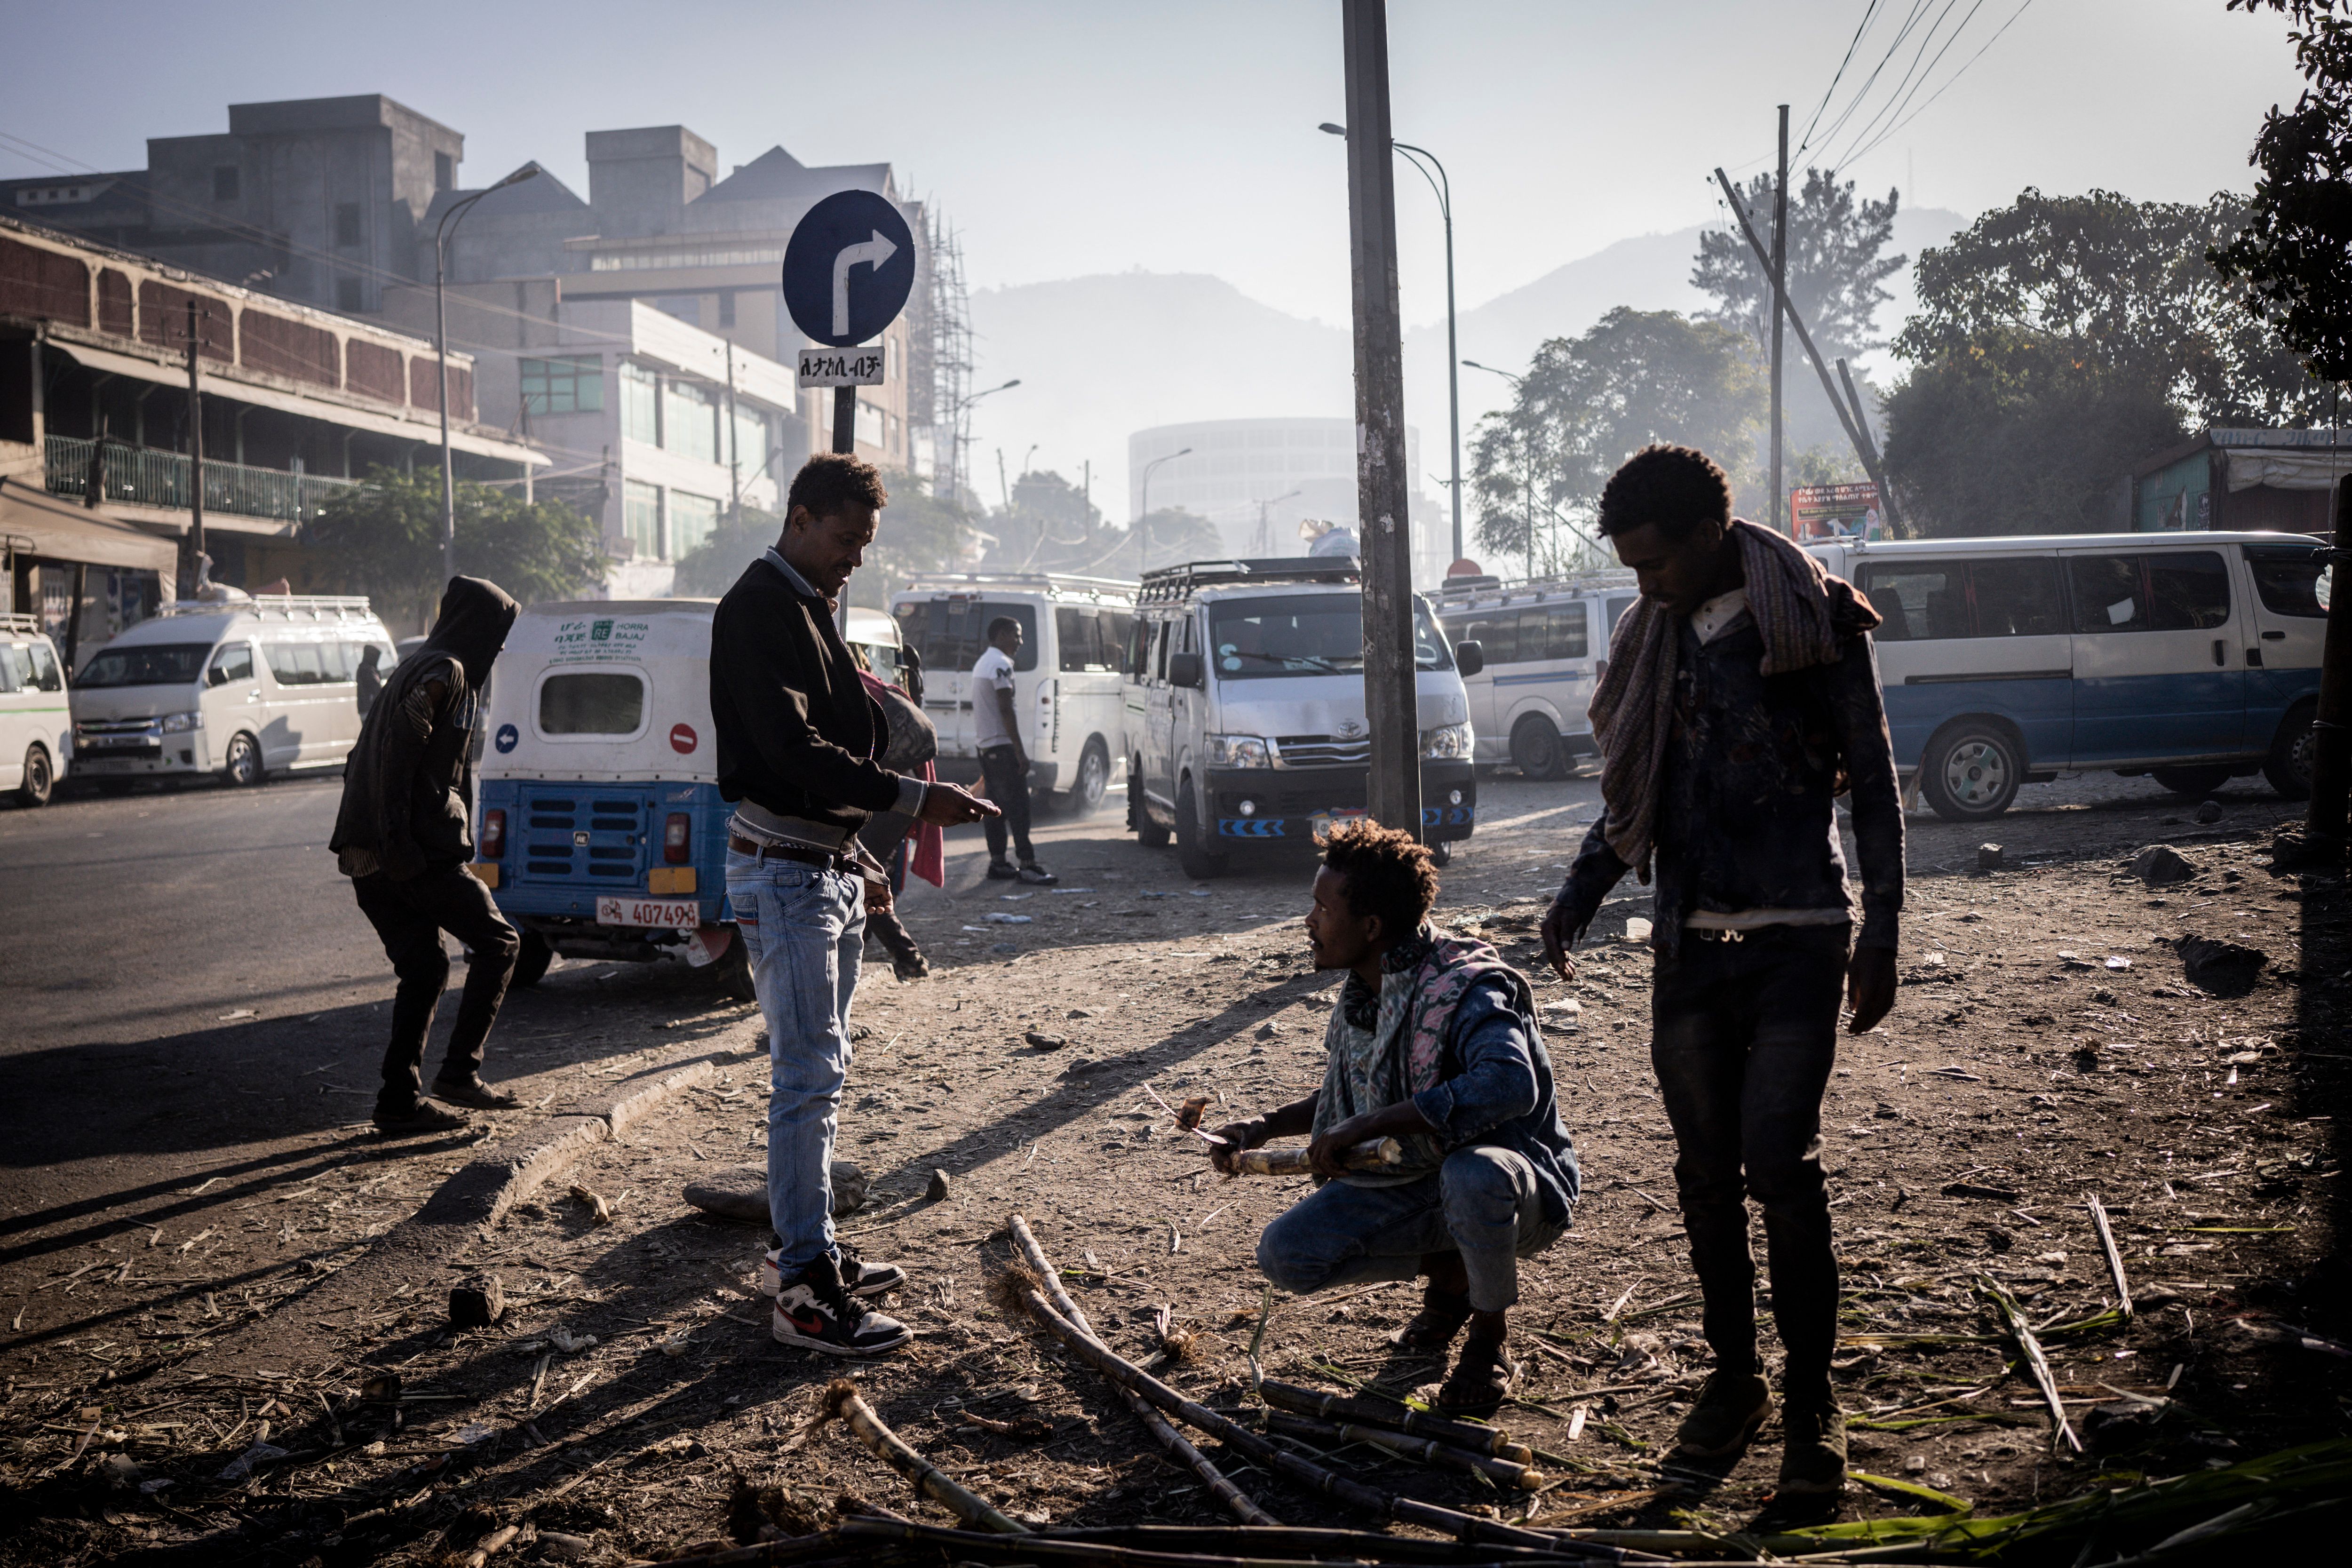
POLYGON ((1675 1126, 1675 1192, 1705 1298, 1708 1347, 1757 1371, 1748 1197, 1764 1208, 1783 1387, 1818 1399, 1837 1342, 1837 1253, 1820 1178, 1820 1095, 1837 1063, 1849 926, 1682 933, 1651 990, 1651 1065, 1675 1126))

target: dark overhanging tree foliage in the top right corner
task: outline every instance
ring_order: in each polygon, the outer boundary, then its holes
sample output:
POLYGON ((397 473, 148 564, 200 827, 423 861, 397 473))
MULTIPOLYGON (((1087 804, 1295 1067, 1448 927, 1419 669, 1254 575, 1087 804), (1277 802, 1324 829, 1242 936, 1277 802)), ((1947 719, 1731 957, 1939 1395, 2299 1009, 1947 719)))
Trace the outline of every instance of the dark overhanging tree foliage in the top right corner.
POLYGON ((2230 0, 2232 12, 2265 7, 2296 21, 2310 87, 2263 118, 2244 228, 2206 254, 2314 376, 2352 381, 2352 14, 2336 0, 2230 0))

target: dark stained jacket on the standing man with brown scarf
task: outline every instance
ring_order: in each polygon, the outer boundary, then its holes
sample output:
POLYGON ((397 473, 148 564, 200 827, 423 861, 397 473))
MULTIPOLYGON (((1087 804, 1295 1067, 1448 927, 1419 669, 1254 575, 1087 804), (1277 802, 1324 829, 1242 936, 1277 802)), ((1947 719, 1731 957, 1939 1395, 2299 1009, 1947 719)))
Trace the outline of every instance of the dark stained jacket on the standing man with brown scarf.
MULTIPOLYGON (((1903 804, 1867 632, 1837 663, 1764 677, 1748 611, 1700 644, 1684 618, 1675 733, 1656 830, 1653 945, 1675 954, 1696 910, 1851 910, 1835 797, 1851 788, 1860 947, 1893 947, 1903 912, 1903 804)), ((1592 823, 1555 903, 1583 936, 1628 865, 1592 823)))

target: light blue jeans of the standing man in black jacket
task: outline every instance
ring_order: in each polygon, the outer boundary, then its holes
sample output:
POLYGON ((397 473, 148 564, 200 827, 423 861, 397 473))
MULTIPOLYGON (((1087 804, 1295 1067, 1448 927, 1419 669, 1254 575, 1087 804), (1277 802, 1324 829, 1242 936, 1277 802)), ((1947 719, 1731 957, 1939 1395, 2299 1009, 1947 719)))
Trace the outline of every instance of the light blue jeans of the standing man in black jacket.
POLYGON ((849 1081, 866 884, 729 851, 727 900, 767 1016, 767 1213, 790 1279, 833 1253, 833 1131, 849 1081))

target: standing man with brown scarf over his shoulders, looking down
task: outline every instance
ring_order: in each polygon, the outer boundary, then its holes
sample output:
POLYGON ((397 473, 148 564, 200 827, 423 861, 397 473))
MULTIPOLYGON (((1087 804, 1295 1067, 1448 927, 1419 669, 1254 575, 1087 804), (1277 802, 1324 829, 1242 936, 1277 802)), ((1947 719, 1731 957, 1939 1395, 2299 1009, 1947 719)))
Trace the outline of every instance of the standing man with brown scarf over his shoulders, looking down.
POLYGON ((1715 1352, 1677 1453, 1724 1458, 1771 1415, 1755 1333, 1748 1204, 1764 1208, 1785 1352, 1780 1490, 1846 1483, 1830 1389, 1837 1258, 1820 1093, 1849 1030, 1896 997, 1903 806, 1879 701, 1877 611, 1788 538, 1731 517, 1724 470, 1646 447, 1602 491, 1599 529, 1642 581, 1592 696, 1602 816, 1543 922, 1569 947, 1618 879, 1651 877, 1651 1065, 1675 1126, 1675 1187, 1715 1352), (1851 792, 1863 929, 1853 936, 1835 799, 1851 792))

